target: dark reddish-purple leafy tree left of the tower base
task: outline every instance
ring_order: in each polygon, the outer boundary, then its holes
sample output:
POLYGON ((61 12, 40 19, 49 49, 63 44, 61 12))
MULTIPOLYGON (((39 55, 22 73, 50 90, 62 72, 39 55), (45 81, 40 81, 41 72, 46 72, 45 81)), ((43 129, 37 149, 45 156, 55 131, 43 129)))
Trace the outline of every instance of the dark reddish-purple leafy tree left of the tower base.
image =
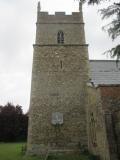
POLYGON ((23 141, 27 137, 28 117, 22 107, 11 103, 0 106, 0 141, 23 141))

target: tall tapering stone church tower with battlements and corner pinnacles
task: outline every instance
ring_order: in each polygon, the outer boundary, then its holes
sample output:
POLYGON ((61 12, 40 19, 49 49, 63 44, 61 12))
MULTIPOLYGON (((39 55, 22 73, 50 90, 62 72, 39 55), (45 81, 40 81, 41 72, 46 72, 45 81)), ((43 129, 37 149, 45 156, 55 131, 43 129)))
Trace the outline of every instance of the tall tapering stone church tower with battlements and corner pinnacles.
POLYGON ((82 9, 65 15, 38 3, 29 114, 29 154, 87 148, 88 45, 82 9))

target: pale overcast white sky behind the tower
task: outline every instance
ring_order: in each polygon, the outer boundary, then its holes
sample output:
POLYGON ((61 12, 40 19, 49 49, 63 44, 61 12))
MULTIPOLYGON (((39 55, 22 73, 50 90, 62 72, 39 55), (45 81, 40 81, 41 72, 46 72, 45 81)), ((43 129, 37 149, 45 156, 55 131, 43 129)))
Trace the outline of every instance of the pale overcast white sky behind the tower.
MULTIPOLYGON (((41 7, 51 14, 79 8, 74 0, 41 0, 41 7)), ((101 30, 100 7, 83 7, 90 59, 109 59, 102 53, 119 41, 113 43, 101 30)), ((0 0, 0 104, 19 104, 24 112, 29 108, 36 10, 37 0, 0 0)))

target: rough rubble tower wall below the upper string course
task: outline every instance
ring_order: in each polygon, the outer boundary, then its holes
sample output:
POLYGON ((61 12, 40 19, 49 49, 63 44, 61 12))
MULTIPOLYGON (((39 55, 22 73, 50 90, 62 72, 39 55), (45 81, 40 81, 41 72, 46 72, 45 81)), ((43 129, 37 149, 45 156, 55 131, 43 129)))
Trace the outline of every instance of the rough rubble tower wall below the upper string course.
POLYGON ((87 148, 87 64, 86 46, 34 46, 28 135, 31 153, 45 153, 48 146, 51 151, 63 152, 87 148), (59 128, 51 123, 54 112, 63 114, 59 128))

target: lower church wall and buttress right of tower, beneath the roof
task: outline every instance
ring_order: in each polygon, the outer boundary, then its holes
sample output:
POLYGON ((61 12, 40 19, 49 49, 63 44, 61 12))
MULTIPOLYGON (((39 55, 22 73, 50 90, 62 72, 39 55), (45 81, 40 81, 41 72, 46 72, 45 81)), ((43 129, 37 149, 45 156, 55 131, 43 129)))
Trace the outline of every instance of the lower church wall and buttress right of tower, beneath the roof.
POLYGON ((120 155, 120 87, 88 87, 88 148, 100 160, 118 160, 120 155))

